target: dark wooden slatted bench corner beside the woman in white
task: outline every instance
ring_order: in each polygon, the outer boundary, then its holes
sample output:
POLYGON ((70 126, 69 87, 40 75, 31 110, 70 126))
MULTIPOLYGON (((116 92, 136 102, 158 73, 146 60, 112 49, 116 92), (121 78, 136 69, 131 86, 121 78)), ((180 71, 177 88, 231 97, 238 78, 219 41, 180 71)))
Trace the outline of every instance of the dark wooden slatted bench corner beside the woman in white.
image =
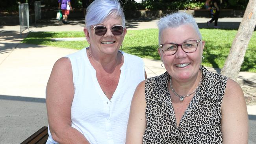
POLYGON ((48 139, 48 127, 42 127, 21 144, 45 144, 48 139))

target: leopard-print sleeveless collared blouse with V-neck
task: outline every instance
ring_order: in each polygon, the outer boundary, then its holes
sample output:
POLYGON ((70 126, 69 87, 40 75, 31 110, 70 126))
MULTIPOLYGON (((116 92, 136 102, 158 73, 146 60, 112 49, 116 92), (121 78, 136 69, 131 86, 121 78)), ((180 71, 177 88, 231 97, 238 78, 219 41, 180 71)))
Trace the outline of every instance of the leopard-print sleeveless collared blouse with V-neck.
POLYGON ((146 129, 143 144, 222 144, 221 102, 227 78, 200 66, 202 83, 176 124, 167 72, 145 83, 146 129))

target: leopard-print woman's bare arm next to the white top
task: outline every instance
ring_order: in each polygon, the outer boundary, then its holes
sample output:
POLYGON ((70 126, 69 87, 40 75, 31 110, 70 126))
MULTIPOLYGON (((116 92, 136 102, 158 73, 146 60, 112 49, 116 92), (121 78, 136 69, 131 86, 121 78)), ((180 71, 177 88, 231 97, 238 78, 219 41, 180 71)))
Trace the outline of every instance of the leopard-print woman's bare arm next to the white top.
POLYGON ((142 138, 146 128, 145 110, 145 81, 142 81, 137 86, 132 98, 126 144, 142 144, 142 138))

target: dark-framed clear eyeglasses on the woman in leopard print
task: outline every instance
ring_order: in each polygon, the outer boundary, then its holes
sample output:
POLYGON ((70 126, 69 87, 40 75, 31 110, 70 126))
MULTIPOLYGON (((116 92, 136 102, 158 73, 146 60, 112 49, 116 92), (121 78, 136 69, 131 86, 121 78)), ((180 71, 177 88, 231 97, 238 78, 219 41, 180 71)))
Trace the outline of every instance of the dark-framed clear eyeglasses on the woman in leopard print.
POLYGON ((182 50, 186 53, 193 53, 197 50, 198 43, 201 40, 189 40, 183 42, 182 44, 175 44, 175 43, 167 43, 167 44, 160 44, 160 48, 166 55, 174 55, 178 50, 178 46, 182 48, 182 50))

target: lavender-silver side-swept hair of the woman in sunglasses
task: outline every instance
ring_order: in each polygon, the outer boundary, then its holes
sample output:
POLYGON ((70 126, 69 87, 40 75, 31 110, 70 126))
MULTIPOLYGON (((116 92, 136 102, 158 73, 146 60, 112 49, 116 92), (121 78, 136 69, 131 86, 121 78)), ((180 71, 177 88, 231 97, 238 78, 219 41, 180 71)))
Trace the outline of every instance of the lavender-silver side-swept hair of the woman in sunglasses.
POLYGON ((95 0, 86 9, 85 25, 89 29, 91 26, 100 24, 109 15, 120 16, 122 18, 122 26, 125 27, 125 18, 123 8, 120 6, 119 0, 95 0))

